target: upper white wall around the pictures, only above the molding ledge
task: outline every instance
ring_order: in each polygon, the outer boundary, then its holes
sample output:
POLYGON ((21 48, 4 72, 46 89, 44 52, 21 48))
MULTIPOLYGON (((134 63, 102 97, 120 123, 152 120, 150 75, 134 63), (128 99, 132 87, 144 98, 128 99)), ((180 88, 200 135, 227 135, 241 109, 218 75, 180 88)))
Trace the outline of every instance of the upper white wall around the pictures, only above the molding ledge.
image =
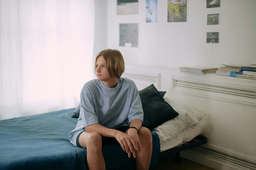
POLYGON ((206 0, 188 0, 187 22, 167 22, 167 0, 158 0, 158 23, 145 22, 145 0, 139 15, 116 15, 116 0, 108 0, 107 47, 118 49, 126 64, 166 67, 256 63, 256 1, 221 0, 206 8, 206 0), (207 14, 220 13, 220 25, 207 25, 207 14), (119 23, 139 23, 139 48, 119 47, 119 23), (220 32, 219 44, 207 44, 206 32, 220 32))

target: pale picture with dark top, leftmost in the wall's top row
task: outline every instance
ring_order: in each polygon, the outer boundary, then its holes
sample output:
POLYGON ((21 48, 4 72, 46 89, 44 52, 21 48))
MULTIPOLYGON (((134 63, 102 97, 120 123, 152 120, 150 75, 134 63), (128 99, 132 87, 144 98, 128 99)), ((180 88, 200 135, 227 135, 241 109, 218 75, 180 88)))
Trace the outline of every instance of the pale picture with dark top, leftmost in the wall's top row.
POLYGON ((117 0, 117 15, 139 14, 138 0, 117 0))

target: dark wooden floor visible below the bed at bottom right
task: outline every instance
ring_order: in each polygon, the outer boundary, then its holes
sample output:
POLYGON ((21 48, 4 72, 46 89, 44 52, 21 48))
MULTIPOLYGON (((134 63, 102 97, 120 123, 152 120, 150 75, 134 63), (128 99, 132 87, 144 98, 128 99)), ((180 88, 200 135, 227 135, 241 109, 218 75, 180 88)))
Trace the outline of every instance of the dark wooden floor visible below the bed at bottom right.
POLYGON ((214 170, 207 166, 180 158, 180 163, 175 163, 175 158, 160 158, 159 166, 153 170, 214 170))

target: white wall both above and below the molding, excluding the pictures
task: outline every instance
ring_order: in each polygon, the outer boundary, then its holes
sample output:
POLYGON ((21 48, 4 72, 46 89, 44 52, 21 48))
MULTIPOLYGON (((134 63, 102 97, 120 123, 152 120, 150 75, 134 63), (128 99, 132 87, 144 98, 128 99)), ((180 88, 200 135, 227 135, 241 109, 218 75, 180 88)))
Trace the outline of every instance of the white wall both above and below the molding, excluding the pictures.
MULTIPOLYGON (((188 0, 187 22, 176 23, 167 22, 167 0, 158 0, 158 22, 146 23, 145 1, 139 0, 139 15, 116 15, 117 1, 108 0, 107 48, 120 50, 127 65, 151 65, 147 68, 154 70, 156 66, 256 64, 256 0, 221 0, 218 8, 206 8, 206 0, 188 0), (207 14, 214 13, 220 13, 220 25, 207 25, 207 14), (119 47, 119 23, 139 23, 138 48, 119 47), (220 32, 220 43, 207 44, 206 32, 220 32)), ((161 73, 161 78, 166 77, 171 79, 161 73)), ((255 162, 255 107, 167 95, 208 113, 204 129, 208 144, 255 162)))

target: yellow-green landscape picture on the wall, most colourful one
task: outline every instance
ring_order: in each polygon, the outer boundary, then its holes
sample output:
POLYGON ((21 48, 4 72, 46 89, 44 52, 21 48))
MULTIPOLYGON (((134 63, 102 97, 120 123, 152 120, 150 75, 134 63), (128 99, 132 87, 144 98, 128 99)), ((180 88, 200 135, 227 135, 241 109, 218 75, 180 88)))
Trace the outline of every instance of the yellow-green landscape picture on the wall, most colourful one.
POLYGON ((187 0, 168 0, 167 22, 187 21, 187 0))

